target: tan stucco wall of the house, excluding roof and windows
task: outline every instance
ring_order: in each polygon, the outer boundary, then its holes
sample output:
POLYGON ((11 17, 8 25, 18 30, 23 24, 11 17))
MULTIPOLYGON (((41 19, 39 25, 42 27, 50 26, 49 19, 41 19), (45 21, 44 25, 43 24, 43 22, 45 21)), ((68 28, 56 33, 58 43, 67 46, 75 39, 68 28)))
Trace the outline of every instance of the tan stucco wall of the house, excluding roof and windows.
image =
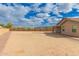
POLYGON ((64 26, 64 31, 62 31, 61 29, 62 34, 79 37, 79 23, 78 22, 66 21, 61 26, 64 26), (73 25, 77 26, 77 32, 72 32, 73 25))

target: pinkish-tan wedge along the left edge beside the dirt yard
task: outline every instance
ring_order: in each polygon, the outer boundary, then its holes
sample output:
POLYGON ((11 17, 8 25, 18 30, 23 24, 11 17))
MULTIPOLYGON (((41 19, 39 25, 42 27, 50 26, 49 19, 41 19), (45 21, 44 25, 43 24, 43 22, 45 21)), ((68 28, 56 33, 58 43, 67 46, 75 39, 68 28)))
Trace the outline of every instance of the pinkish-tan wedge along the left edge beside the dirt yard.
POLYGON ((0 54, 3 51, 7 40, 9 39, 9 29, 0 28, 0 54))

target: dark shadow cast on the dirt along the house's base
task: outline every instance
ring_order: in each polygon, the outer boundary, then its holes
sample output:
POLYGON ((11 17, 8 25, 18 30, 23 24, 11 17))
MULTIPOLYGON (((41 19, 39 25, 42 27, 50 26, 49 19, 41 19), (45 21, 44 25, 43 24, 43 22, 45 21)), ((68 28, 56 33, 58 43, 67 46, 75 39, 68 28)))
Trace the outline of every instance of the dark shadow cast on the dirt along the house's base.
POLYGON ((74 36, 70 36, 70 35, 65 35, 65 34, 61 34, 61 33, 53 33, 53 32, 44 32, 44 34, 46 36, 49 37, 54 37, 54 38, 67 38, 69 40, 74 40, 74 41, 78 41, 79 42, 79 37, 74 37, 74 36))

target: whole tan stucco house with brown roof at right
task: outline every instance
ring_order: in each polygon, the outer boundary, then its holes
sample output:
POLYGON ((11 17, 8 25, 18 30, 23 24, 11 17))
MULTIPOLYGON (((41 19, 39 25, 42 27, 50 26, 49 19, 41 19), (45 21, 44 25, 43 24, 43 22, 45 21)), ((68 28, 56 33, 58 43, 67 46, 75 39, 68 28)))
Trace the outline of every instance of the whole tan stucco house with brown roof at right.
POLYGON ((64 18, 57 24, 57 27, 55 32, 79 37, 79 18, 64 18))

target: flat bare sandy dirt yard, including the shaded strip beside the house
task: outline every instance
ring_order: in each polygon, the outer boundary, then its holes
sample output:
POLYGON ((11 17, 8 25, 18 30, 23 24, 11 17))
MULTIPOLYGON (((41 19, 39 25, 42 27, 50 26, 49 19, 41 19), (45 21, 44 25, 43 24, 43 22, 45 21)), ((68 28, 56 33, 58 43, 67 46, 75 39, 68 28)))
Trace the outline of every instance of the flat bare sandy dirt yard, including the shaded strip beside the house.
POLYGON ((79 38, 39 31, 12 31, 6 36, 1 55, 79 55, 79 38))

